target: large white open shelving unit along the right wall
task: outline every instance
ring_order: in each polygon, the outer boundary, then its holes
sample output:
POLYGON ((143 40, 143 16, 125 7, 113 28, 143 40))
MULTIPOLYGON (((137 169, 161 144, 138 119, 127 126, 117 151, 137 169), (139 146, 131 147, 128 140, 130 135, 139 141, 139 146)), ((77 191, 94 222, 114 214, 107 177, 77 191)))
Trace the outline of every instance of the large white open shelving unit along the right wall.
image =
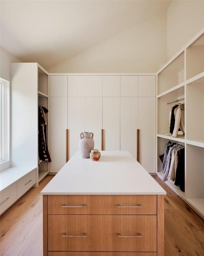
POLYGON ((162 175, 159 156, 164 145, 177 142, 185 146, 185 192, 166 180, 177 195, 204 218, 204 29, 157 72, 156 96, 156 171, 162 175), (184 80, 178 74, 184 69, 184 80), (169 102, 184 98, 185 135, 169 134, 169 102))

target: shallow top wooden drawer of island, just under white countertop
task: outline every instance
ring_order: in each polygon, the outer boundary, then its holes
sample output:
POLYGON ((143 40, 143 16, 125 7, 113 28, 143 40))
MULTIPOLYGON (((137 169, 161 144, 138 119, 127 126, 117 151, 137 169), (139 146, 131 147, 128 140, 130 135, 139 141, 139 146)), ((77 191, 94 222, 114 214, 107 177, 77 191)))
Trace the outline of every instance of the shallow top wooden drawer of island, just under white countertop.
POLYGON ((48 214, 156 215, 156 195, 48 195, 48 214))

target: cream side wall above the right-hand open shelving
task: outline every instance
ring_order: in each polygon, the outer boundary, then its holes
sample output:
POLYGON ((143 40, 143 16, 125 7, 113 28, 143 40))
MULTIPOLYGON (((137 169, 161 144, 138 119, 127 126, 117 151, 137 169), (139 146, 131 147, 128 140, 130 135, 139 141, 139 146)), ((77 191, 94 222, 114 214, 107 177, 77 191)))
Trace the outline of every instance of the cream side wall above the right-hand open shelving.
POLYGON ((167 60, 204 27, 204 1, 172 1, 167 9, 167 60))

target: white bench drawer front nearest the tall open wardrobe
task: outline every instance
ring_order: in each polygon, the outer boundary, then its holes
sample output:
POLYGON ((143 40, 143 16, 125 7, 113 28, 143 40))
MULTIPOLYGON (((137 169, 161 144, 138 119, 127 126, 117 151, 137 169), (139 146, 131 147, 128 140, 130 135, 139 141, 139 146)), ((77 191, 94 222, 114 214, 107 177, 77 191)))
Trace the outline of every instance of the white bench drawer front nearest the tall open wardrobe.
POLYGON ((20 179, 18 184, 17 198, 20 198, 26 191, 28 191, 36 183, 36 169, 20 179))

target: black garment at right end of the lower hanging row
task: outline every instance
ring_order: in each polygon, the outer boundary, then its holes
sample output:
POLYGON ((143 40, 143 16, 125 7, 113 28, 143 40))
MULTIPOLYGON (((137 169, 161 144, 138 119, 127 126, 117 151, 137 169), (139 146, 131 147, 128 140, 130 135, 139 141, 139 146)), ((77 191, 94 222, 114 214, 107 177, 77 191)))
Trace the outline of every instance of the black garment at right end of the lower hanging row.
POLYGON ((176 168, 175 185, 185 192, 185 148, 177 151, 178 164, 176 168))

